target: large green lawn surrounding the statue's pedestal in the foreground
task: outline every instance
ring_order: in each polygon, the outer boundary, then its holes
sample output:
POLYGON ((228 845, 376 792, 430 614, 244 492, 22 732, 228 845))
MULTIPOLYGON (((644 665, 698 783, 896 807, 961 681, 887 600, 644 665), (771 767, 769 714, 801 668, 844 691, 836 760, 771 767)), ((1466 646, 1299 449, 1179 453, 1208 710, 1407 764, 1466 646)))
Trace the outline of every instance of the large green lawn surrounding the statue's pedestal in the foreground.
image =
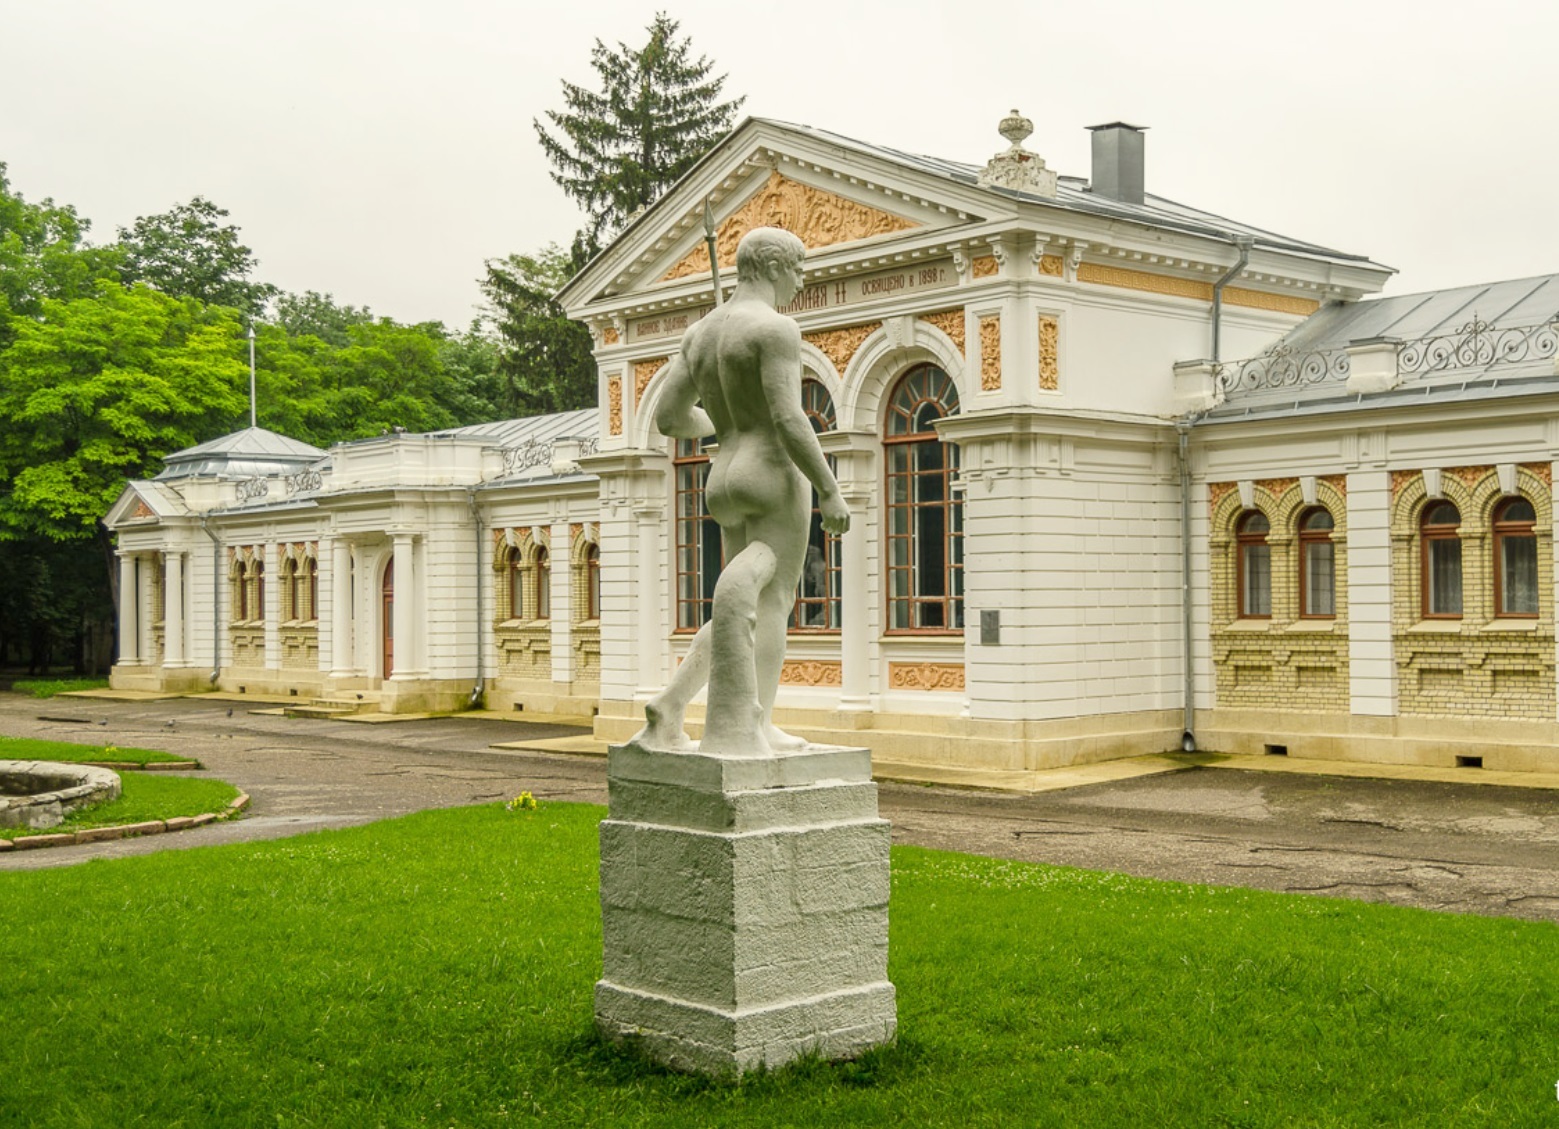
POLYGON ((1559 926, 893 851, 900 1045, 591 1035, 599 808, 0 873, 0 1124, 1554 1124, 1559 926))

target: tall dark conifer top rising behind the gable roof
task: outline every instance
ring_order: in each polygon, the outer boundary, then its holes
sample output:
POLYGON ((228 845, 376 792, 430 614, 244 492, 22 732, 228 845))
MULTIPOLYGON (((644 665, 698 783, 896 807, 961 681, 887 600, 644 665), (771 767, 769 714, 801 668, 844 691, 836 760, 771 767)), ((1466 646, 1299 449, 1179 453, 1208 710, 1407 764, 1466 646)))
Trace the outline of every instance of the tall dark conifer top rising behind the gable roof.
POLYGON ((641 207, 653 203, 692 168, 736 119, 745 98, 720 101, 725 75, 692 58, 691 39, 658 12, 644 47, 596 41, 591 65, 600 90, 563 83, 563 111, 547 111, 557 129, 532 125, 552 162, 552 179, 589 215, 575 240, 577 270, 619 232, 641 207))

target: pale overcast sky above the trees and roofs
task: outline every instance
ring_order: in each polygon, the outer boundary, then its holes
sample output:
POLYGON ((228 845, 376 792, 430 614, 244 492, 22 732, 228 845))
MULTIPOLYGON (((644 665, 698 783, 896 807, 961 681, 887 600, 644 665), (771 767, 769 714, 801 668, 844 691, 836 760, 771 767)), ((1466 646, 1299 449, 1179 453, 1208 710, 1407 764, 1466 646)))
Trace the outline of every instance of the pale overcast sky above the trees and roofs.
POLYGON ((1388 293, 1559 271, 1559 5, 1483 0, 0 0, 0 161, 98 242, 204 195, 259 278, 466 323, 483 259, 567 243, 532 119, 664 8, 744 114, 1088 175, 1369 254, 1388 293))

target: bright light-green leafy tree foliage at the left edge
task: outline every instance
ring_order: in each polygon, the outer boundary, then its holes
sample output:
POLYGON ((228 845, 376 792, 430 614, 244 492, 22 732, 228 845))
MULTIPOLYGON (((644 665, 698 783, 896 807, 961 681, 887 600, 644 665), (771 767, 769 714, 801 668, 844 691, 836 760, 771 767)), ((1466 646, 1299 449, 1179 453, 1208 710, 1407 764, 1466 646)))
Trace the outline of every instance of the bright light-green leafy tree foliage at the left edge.
POLYGON ((125 479, 243 413, 237 310, 100 281, 12 329, 0 352, 0 540, 90 538, 125 479))

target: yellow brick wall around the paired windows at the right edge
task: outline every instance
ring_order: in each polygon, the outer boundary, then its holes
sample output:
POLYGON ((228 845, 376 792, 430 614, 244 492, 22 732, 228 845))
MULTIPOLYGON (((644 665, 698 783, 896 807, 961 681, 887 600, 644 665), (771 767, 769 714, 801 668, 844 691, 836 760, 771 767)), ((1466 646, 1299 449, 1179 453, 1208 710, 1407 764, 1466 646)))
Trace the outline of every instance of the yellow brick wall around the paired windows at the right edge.
POLYGON ((1462 618, 1423 619, 1419 516, 1431 501, 1420 472, 1392 476, 1391 572, 1397 694, 1403 714, 1554 717, 1553 490, 1550 465, 1517 468, 1517 491, 1537 516, 1537 619, 1495 619, 1494 466, 1441 472, 1461 511, 1462 618))

